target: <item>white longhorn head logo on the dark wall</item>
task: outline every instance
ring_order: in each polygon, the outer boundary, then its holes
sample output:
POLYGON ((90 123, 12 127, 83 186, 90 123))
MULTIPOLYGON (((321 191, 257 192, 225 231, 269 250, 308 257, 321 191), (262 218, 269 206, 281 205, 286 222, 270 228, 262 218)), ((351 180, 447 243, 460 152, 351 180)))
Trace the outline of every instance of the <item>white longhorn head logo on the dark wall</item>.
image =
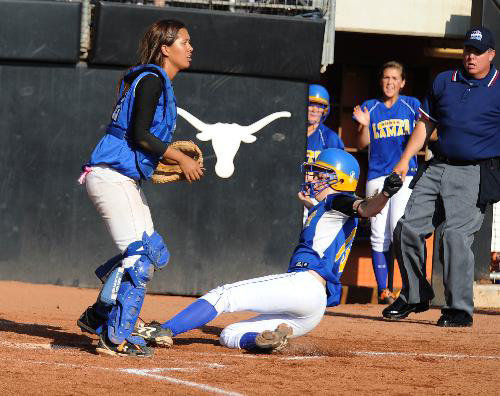
POLYGON ((219 177, 227 178, 234 173, 234 157, 240 148, 241 142, 253 143, 257 138, 253 135, 260 131, 267 124, 282 117, 291 117, 288 111, 279 111, 269 114, 267 117, 254 122, 251 125, 243 126, 239 124, 206 124, 200 121, 188 111, 177 108, 177 114, 194 126, 198 131, 196 137, 204 142, 212 141, 212 147, 217 161, 215 163, 215 173, 219 177))

